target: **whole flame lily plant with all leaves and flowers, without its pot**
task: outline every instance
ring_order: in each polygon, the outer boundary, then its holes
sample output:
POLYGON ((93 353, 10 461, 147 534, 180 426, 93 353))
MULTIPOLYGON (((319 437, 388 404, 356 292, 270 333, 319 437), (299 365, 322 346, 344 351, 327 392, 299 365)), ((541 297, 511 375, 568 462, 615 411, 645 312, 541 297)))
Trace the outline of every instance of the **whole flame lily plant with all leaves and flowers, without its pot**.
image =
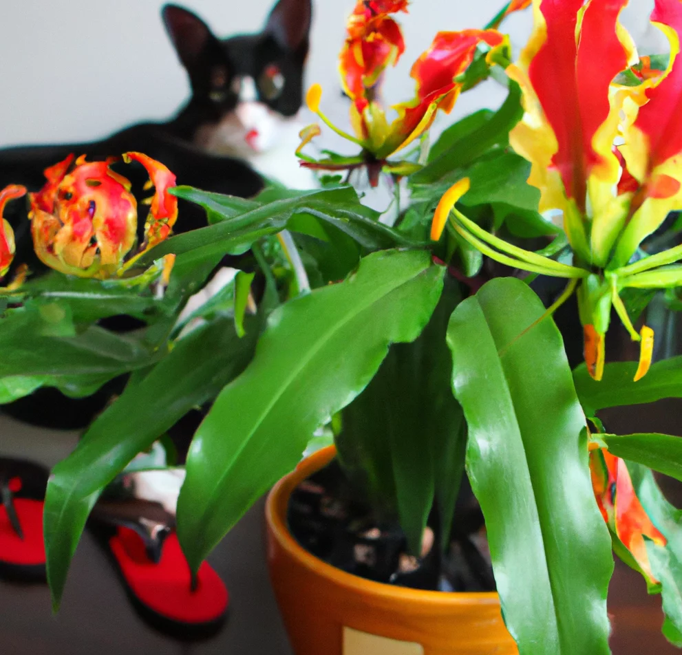
POLYGON ((232 197, 175 186, 139 153, 124 159, 156 187, 144 226, 111 161, 70 157, 42 189, 0 193, 0 275, 11 278, 0 404, 45 386, 89 396, 129 374, 50 477, 55 605, 94 498, 203 407, 177 513, 195 572, 301 453, 333 442, 349 497, 366 501, 367 534, 389 526, 396 559, 418 572, 440 561, 419 559, 427 527, 432 548, 476 550, 482 524, 467 532, 458 503, 467 476, 489 545, 489 560, 473 559, 520 655, 608 655, 614 553, 661 593, 663 633, 682 645, 682 521, 654 477, 682 480, 682 439, 615 435, 600 421, 682 398, 682 356, 658 347, 682 308, 682 0, 655 0, 651 16, 670 56, 637 52, 619 22, 626 4, 514 0, 482 29, 440 31, 390 120, 381 85, 405 54, 411 5, 358 1, 339 44, 352 129, 332 125, 313 85, 321 123, 303 130, 298 155, 399 182, 399 211, 363 202, 349 183, 359 175, 232 197), (531 6, 535 29, 512 63, 500 30, 531 6), (488 77, 507 87, 502 105, 427 138, 488 77), (357 154, 308 155, 322 124, 357 154), (177 198, 204 208, 201 229, 171 235, 177 198), (226 254, 240 270, 216 290, 226 254), (556 311, 574 295, 578 312, 556 311), (107 328, 121 314, 138 328, 107 328), (629 334, 638 361, 605 361, 610 322, 610 345, 629 334))

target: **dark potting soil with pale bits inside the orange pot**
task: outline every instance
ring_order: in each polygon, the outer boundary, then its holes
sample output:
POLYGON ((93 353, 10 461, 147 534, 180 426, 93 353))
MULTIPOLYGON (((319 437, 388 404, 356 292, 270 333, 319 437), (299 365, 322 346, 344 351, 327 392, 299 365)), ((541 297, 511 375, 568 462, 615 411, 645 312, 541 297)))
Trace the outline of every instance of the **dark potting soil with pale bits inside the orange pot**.
POLYGON ((433 513, 422 552, 410 554, 400 526, 377 521, 370 506, 356 499, 336 460, 299 484, 287 518, 303 548, 348 573, 414 589, 495 590, 482 513, 466 480, 447 552, 439 547, 433 513))

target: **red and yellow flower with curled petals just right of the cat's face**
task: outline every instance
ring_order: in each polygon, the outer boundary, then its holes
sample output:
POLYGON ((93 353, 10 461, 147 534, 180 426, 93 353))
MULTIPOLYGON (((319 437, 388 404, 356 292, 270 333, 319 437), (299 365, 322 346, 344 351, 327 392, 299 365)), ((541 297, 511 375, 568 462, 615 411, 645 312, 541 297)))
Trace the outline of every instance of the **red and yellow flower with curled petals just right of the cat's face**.
MULTIPOLYGON (((362 152, 354 158, 313 160, 302 155, 302 166, 342 170, 367 167, 370 182, 376 186, 383 170, 404 175, 414 169, 410 162, 390 162, 388 158, 419 138, 436 118, 438 110, 448 114, 462 91, 463 80, 480 45, 489 48, 489 65, 508 56, 509 41, 497 30, 439 32, 431 47, 414 63, 411 76, 416 81, 416 96, 395 105, 398 116, 387 120, 379 100, 381 76, 405 52, 401 28, 392 14, 407 11, 407 0, 359 0, 348 22, 348 36, 339 58, 341 80, 352 101, 350 122, 354 136, 338 129, 320 111, 322 89, 313 85, 308 92, 308 107, 323 122, 344 138, 358 144, 362 152)), ((301 133, 307 143, 312 132, 301 133)))

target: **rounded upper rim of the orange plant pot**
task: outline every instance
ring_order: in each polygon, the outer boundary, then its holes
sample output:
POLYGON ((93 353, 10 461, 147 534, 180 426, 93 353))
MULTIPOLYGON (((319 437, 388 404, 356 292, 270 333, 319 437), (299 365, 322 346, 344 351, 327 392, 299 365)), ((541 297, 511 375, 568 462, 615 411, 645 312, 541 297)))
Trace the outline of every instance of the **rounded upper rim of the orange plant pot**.
POLYGON ((332 445, 312 453, 297 466, 295 471, 282 477, 268 494, 265 508, 266 521, 281 548, 284 548, 291 557, 297 559, 303 566, 328 579, 331 583, 365 595, 372 594, 386 599, 399 598, 403 601, 409 600, 439 606, 468 605, 472 602, 500 605, 500 597, 497 592, 428 591, 367 580, 336 568, 303 548, 292 537, 286 524, 289 499, 294 489, 312 473, 326 466, 334 458, 336 452, 336 447, 332 445))

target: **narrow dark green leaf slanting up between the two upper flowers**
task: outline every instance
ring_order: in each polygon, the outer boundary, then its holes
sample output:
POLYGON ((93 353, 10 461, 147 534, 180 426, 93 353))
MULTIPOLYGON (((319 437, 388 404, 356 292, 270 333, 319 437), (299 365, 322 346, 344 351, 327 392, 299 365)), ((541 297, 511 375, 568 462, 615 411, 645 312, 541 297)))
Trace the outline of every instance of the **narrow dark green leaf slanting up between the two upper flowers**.
POLYGON ((432 184, 453 171, 467 167, 471 162, 487 153, 496 145, 509 142, 509 131, 523 116, 521 89, 518 84, 509 84, 509 96, 489 120, 475 129, 462 130, 460 138, 453 140, 443 153, 429 162, 410 179, 411 184, 432 184))

